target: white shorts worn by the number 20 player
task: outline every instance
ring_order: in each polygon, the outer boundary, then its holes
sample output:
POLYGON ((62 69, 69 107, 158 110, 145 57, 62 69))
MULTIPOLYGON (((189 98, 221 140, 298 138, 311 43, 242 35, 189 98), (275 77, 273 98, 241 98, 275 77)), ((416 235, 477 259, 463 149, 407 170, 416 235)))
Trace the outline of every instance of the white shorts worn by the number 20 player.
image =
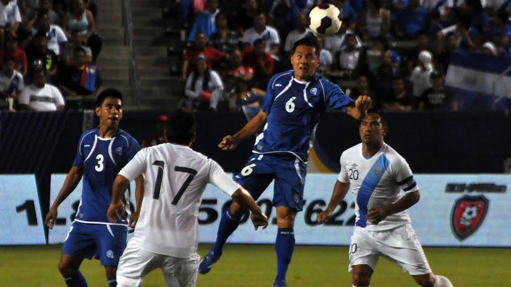
POLYGON ((375 270, 380 256, 395 262, 410 275, 431 273, 415 231, 407 224, 388 231, 367 231, 355 226, 350 243, 350 266, 368 265, 375 270))

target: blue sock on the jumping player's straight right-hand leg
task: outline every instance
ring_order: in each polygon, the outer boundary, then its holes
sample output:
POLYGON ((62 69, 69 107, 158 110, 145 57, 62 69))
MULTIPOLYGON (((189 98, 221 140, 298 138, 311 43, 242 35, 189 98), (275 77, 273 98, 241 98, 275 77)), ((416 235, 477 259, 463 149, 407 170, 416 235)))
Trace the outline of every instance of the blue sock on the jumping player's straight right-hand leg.
POLYGON ((286 281, 287 268, 291 262, 291 257, 293 257, 293 228, 278 228, 275 251, 277 252, 277 276, 275 277, 275 282, 283 282, 286 281))

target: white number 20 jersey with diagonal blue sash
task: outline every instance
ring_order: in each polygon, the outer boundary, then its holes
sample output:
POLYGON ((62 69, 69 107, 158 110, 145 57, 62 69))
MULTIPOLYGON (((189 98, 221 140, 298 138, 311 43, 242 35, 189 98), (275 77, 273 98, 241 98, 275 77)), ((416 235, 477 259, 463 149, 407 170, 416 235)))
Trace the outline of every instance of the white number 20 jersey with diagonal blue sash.
POLYGON ((400 154, 383 143, 378 153, 366 158, 362 154, 362 143, 359 143, 342 153, 340 163, 338 180, 351 184, 356 199, 355 226, 383 231, 410 223, 406 211, 387 216, 377 225, 366 219, 369 208, 397 202, 401 198, 401 190, 405 193, 419 190, 410 166, 400 154))

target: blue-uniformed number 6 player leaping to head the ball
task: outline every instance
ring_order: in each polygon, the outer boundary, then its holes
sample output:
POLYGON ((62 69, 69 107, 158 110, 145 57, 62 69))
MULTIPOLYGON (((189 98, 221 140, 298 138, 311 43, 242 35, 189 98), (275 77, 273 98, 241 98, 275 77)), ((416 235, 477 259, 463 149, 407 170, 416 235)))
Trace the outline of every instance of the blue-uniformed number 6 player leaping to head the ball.
MULTIPOLYGON (((286 272, 295 243, 294 219, 303 207, 306 164, 320 115, 327 108, 334 108, 358 119, 371 105, 366 95, 353 102, 339 86, 316 74, 319 51, 315 37, 296 41, 291 55, 293 70, 274 75, 259 114, 236 134, 225 136, 218 145, 222 150, 231 150, 241 140, 263 131, 255 139, 253 154, 235 180, 254 199, 275 181, 272 204, 277 210, 278 232, 274 287, 287 286, 286 272)), ((239 204, 233 203, 222 213, 217 240, 202 260, 199 273, 209 272, 218 261, 227 237, 238 228, 244 212, 239 204)))

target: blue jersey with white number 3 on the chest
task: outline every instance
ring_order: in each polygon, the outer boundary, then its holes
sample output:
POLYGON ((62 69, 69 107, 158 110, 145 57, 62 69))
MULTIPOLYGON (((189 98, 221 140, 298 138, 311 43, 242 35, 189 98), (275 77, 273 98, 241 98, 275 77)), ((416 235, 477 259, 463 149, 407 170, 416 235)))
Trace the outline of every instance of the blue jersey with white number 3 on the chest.
MULTIPOLYGON (((113 180, 138 150, 136 140, 123 130, 112 134, 111 138, 101 138, 98 128, 82 134, 73 162, 74 166, 83 169, 82 198, 76 221, 109 223, 106 211, 112 201, 113 180)), ((129 194, 123 202, 129 207, 129 194)), ((129 212, 129 208, 126 210, 129 212)), ((118 224, 127 224, 126 216, 118 224)))

